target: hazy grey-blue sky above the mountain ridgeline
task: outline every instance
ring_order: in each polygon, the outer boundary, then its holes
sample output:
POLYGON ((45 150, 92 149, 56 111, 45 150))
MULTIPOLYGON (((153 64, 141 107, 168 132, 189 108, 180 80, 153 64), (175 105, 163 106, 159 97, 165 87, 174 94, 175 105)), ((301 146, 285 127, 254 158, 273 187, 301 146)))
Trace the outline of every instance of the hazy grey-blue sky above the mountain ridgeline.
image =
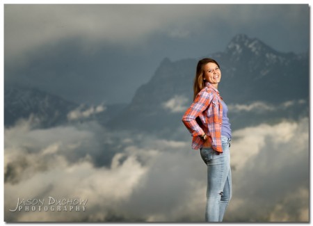
POLYGON ((78 103, 127 103, 163 58, 224 51, 238 33, 301 53, 309 49, 309 26, 305 4, 6 4, 5 82, 78 103))

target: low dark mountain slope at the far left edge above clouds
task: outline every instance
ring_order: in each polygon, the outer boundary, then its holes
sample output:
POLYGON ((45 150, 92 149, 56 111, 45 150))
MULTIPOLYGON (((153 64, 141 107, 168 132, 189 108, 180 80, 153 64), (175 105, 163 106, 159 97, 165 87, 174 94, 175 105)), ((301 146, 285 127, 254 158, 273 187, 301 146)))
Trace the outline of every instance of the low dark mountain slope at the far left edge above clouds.
MULTIPOLYGON (((84 120, 98 120, 105 124, 113 115, 116 115, 126 104, 110 104, 104 106, 104 110, 93 113, 86 118, 78 118, 80 122, 84 120)), ((93 106, 77 104, 67 101, 56 95, 51 95, 43 90, 26 88, 16 85, 4 86, 4 126, 10 127, 19 119, 28 119, 31 115, 40 120, 38 127, 54 127, 69 122, 70 112, 88 113, 93 106)))

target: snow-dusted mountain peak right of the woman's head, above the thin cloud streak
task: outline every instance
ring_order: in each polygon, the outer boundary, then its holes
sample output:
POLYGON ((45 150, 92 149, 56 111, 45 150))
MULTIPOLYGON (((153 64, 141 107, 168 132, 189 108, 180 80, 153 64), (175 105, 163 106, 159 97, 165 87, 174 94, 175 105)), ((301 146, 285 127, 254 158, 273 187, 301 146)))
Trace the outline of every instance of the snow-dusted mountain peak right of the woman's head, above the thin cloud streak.
POLYGON ((257 38, 236 35, 223 53, 212 58, 220 62, 220 91, 228 102, 279 104, 309 97, 308 53, 280 53, 257 38))

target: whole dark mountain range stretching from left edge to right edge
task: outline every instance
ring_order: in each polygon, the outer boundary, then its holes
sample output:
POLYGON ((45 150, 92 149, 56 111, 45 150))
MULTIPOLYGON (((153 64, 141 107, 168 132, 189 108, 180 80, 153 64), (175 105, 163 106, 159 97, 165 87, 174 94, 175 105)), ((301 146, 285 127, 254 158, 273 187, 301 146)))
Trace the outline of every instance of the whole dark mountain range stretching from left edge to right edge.
MULTIPOLYGON (((239 34, 224 51, 207 57, 220 64, 222 80, 218 89, 230 107, 232 129, 308 116, 308 53, 282 53, 257 38, 239 34)), ((182 114, 192 102, 197 63, 198 59, 193 58, 165 58, 152 79, 138 88, 131 103, 105 106, 103 111, 79 120, 97 120, 113 130, 170 136, 182 127, 182 114)), ((67 123, 71 111, 84 115, 90 109, 95 111, 93 106, 69 102, 42 90, 4 86, 5 127, 30 115, 40 119, 40 126, 54 127, 67 123)))

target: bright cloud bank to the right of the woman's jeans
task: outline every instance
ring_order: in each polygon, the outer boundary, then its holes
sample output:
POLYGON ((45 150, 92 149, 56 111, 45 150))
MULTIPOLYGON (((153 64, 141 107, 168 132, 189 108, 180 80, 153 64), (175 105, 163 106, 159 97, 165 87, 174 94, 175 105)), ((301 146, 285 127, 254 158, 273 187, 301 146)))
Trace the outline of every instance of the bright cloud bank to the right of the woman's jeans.
POLYGON ((241 129, 234 137, 229 220, 308 221, 308 119, 241 129))

